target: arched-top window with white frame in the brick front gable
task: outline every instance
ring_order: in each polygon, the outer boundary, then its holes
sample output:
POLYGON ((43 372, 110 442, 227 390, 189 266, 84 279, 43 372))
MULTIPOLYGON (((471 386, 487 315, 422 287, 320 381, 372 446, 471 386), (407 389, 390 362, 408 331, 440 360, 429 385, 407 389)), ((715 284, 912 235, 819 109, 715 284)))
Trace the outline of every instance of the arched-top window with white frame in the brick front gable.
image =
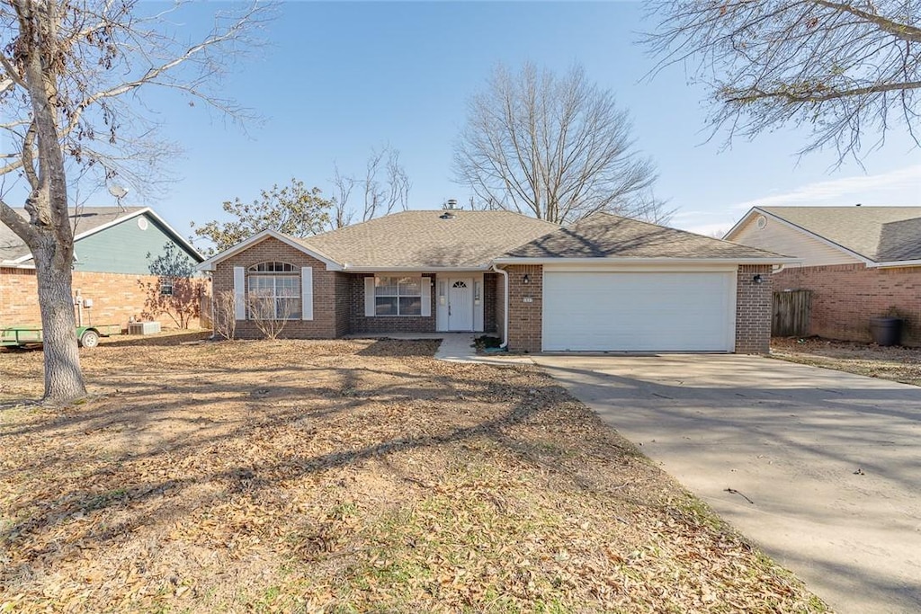
POLYGON ((246 272, 250 319, 300 319, 300 270, 287 262, 260 262, 246 272))

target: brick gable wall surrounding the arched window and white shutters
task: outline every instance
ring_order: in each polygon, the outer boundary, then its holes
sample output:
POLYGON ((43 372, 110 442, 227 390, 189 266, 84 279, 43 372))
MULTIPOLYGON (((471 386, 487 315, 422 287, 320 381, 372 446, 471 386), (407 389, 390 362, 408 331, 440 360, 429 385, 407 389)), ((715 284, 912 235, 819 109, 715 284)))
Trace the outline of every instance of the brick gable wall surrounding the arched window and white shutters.
MULTIPOLYGON (((218 262, 213 273, 215 293, 233 292, 233 268, 243 267, 248 269, 253 264, 260 262, 287 262, 297 267, 313 268, 313 319, 292 319, 285 325, 279 337, 286 339, 332 339, 343 324, 337 321, 340 309, 335 300, 337 273, 326 270, 326 264, 311 258, 303 251, 292 248, 290 245, 274 237, 268 237, 250 249, 234 254, 226 261, 218 262)), ((341 274, 341 273, 339 273, 341 274)), ((342 284, 342 281, 338 282, 342 284)), ((259 339, 262 332, 249 320, 237 322, 237 337, 240 339, 259 339)))

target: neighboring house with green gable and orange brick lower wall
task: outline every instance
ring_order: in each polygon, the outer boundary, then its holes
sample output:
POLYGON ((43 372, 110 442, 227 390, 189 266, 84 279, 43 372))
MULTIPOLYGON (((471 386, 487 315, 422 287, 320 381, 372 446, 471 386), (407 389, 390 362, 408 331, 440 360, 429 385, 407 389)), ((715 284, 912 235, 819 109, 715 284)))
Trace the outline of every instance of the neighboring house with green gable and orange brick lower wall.
MULTIPOLYGON (((28 219, 24 210, 18 214, 28 219)), ((80 207, 71 214, 74 228, 73 290, 84 323, 122 324, 144 310, 140 282, 150 276, 151 258, 169 244, 193 262, 204 257, 148 207, 80 207), (148 257, 149 256, 149 257, 148 257), (85 307, 87 300, 91 307, 85 307)), ((32 254, 6 225, 0 224, 0 326, 38 325, 38 285, 32 254)))

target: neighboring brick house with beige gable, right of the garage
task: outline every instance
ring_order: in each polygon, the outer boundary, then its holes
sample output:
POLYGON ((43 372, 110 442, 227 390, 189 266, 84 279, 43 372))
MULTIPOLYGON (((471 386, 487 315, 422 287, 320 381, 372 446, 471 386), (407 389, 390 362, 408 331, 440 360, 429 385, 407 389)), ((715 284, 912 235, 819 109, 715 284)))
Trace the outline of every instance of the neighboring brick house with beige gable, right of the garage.
POLYGON ((799 258, 774 284, 812 292, 810 334, 869 342, 894 312, 921 345, 921 207, 754 207, 725 238, 799 258))

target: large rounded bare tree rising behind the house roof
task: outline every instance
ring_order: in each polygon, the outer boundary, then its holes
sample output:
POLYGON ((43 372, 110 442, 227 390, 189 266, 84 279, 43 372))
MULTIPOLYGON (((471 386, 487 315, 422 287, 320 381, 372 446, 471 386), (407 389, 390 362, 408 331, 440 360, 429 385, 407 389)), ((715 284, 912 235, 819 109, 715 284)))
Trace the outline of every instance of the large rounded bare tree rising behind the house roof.
POLYGON ((661 208, 647 198, 656 172, 631 131, 627 112, 581 67, 560 77, 499 65, 470 100, 455 179, 479 206, 558 224, 598 211, 649 217, 661 208))

